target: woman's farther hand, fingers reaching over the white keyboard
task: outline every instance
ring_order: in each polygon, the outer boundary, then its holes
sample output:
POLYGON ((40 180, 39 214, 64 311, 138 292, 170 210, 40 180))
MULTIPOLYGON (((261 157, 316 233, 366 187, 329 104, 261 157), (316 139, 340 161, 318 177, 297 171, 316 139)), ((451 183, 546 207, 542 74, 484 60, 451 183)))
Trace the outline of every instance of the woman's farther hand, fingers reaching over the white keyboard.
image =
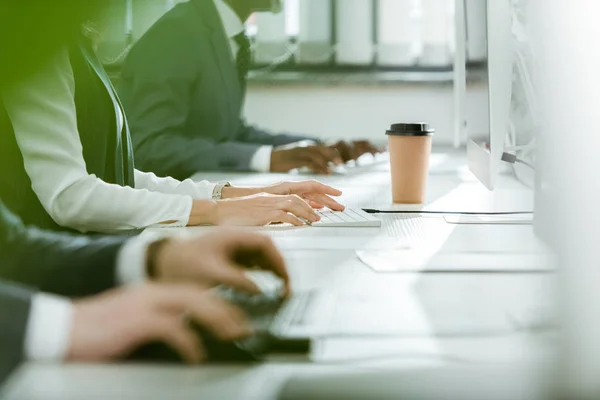
POLYGON ((343 205, 331 198, 331 196, 341 196, 342 192, 318 181, 282 182, 262 190, 270 194, 295 194, 314 208, 328 207, 334 211, 344 210, 343 205))

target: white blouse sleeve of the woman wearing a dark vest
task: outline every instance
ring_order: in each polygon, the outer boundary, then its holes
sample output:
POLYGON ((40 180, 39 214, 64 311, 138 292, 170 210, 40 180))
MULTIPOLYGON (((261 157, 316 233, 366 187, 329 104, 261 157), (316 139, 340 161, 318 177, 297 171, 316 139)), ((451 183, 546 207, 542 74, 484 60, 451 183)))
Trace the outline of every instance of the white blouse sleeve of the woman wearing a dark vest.
POLYGON ((24 85, 3 91, 25 170, 48 214, 82 232, 185 226, 192 196, 108 184, 87 172, 67 50, 24 85))

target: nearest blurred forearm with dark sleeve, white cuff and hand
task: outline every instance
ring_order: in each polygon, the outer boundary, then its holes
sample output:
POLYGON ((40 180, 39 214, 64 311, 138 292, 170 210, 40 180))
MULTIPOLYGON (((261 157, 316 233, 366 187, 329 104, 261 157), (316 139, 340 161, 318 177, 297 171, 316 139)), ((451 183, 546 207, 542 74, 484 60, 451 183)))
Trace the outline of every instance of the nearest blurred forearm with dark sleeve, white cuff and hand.
POLYGON ((151 342, 198 363, 203 348, 190 322, 223 341, 252 333, 240 310, 190 284, 137 285, 71 302, 0 282, 0 310, 0 389, 23 360, 106 362, 151 342))

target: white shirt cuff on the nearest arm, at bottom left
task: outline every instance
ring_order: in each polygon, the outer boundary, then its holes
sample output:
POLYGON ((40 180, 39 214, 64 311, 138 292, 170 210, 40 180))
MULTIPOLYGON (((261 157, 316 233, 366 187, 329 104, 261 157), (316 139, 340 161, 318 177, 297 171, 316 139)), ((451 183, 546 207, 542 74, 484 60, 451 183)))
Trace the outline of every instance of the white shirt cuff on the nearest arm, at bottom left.
POLYGON ((25 335, 25 356, 32 361, 63 361, 69 351, 73 305, 62 297, 33 297, 25 335))

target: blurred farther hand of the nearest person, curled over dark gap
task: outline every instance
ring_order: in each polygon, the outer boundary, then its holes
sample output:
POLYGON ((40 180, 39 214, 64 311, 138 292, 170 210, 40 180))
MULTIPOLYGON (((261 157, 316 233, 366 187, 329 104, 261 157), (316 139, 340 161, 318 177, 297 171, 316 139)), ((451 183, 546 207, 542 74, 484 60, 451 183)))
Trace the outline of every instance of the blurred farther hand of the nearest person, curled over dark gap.
POLYGON ((155 254, 152 278, 162 282, 193 281, 203 286, 227 285, 253 294, 260 289, 244 274, 247 268, 271 271, 290 293, 283 257, 265 235, 221 230, 191 239, 170 239, 155 254))

